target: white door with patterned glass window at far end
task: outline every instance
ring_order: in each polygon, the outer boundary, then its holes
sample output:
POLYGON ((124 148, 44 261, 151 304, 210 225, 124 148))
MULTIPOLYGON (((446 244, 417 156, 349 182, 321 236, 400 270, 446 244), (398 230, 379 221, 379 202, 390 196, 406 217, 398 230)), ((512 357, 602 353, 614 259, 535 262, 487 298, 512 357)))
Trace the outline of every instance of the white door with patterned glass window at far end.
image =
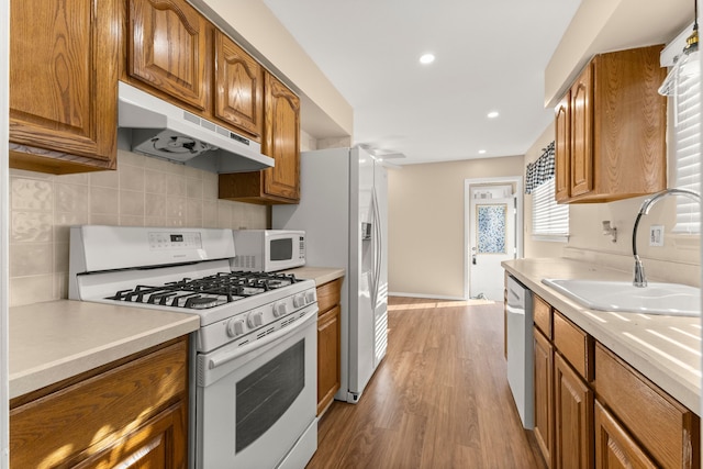
POLYGON ((502 301, 501 263, 517 253, 513 187, 471 186, 469 204, 469 297, 502 301))

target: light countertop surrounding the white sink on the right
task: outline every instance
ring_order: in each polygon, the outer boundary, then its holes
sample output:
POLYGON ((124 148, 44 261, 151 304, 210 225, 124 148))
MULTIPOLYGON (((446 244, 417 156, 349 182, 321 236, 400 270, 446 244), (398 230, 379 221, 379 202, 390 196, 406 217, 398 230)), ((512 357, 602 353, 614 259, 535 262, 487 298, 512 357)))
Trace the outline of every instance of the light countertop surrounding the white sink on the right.
POLYGON ((701 415, 701 319, 595 311, 544 278, 625 280, 632 275, 566 258, 503 261, 505 270, 691 411, 701 415))

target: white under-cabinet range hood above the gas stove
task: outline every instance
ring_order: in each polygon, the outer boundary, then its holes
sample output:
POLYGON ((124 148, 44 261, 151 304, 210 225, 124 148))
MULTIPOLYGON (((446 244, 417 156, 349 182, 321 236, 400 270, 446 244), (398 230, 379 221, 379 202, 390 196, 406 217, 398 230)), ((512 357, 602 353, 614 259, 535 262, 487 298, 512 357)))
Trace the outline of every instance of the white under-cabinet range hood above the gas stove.
POLYGON ((119 97, 120 147, 212 172, 274 166, 274 158, 263 155, 258 143, 160 98, 122 81, 119 97))

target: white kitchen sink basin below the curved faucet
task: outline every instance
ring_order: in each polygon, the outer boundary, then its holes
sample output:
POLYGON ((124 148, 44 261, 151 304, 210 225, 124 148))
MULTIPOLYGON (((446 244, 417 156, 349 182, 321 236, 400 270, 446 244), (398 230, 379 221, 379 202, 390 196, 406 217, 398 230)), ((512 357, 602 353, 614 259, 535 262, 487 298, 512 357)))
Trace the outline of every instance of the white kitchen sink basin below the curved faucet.
POLYGON ((543 279, 543 283, 591 310, 700 316, 701 289, 678 283, 543 279))

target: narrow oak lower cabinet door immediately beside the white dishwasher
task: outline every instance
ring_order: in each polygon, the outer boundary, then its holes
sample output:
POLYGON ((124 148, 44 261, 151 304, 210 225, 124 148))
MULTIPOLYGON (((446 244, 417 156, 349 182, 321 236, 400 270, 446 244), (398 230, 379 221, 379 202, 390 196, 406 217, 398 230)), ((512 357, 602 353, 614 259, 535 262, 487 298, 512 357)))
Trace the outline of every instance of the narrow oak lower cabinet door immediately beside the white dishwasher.
POLYGON ((554 460, 554 347, 539 332, 533 327, 535 361, 535 438, 547 462, 553 467, 554 460))

